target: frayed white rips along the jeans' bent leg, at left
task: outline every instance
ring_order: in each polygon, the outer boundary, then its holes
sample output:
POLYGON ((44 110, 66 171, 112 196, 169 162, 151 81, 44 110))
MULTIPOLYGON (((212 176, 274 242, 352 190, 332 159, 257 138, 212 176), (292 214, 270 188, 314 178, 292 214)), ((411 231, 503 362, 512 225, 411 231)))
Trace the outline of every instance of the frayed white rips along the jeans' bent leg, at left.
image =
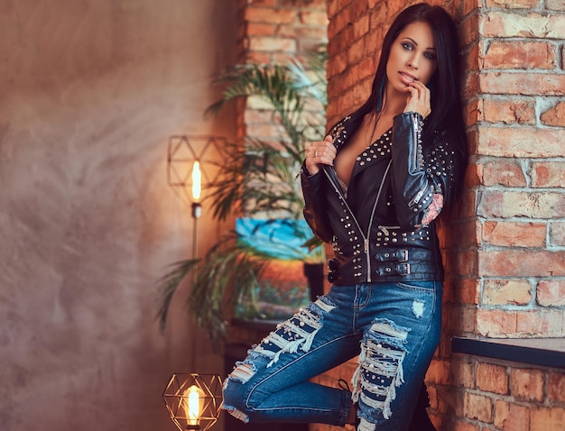
MULTIPOLYGON (((279 361, 283 353, 296 353, 299 349, 308 352, 314 341, 314 337, 322 327, 323 316, 329 313, 335 306, 328 298, 320 297, 316 302, 310 303, 285 322, 279 324, 276 329, 267 335, 261 344, 255 345, 247 355, 244 362, 236 362, 234 371, 227 376, 224 390, 230 382, 236 381, 245 384, 257 372, 255 362, 259 358, 266 358, 269 362, 265 368, 270 368, 279 361)), ((248 422, 249 417, 244 412, 233 406, 223 405, 231 415, 243 422, 248 422)))

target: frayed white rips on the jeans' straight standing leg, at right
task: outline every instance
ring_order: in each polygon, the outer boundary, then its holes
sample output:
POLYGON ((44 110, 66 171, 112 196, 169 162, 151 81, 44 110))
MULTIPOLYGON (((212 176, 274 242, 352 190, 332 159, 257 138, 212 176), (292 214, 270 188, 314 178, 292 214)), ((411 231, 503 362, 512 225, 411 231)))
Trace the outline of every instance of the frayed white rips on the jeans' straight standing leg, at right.
MULTIPOLYGON (((361 400, 369 408, 380 410, 388 419, 391 402, 403 378, 403 344, 409 328, 396 326, 388 319, 376 319, 361 344, 359 366, 353 375, 353 401, 361 400)), ((360 430, 373 431, 375 424, 361 421, 360 430)))

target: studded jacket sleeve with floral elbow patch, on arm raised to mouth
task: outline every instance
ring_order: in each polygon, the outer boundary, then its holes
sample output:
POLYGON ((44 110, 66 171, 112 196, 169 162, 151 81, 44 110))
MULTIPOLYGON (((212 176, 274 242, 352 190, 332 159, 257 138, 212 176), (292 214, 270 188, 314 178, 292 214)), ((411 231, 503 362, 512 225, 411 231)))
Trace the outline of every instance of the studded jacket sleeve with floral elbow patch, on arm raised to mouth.
POLYGON ((430 225, 440 215, 443 197, 454 187, 455 152, 438 134, 431 149, 422 151, 420 114, 394 117, 392 186, 396 216, 403 228, 430 225))

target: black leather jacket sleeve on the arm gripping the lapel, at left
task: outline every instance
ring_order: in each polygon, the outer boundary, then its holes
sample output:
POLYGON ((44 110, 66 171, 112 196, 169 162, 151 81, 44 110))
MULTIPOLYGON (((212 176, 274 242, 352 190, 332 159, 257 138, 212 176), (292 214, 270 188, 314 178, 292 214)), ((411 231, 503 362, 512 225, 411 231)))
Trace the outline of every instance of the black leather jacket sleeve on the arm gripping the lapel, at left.
POLYGON ((325 177, 323 170, 309 175, 305 166, 301 170, 302 194, 304 196, 304 218, 310 229, 324 243, 331 243, 333 233, 329 227, 328 211, 324 190, 325 177))

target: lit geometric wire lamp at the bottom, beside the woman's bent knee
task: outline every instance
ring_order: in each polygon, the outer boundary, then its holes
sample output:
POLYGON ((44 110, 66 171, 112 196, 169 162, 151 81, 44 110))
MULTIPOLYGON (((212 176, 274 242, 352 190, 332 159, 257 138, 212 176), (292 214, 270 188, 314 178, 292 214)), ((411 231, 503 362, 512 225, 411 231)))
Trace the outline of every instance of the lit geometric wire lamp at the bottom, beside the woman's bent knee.
POLYGON ((206 431, 218 420, 222 381, 218 374, 174 373, 162 392, 172 422, 181 430, 206 431))

